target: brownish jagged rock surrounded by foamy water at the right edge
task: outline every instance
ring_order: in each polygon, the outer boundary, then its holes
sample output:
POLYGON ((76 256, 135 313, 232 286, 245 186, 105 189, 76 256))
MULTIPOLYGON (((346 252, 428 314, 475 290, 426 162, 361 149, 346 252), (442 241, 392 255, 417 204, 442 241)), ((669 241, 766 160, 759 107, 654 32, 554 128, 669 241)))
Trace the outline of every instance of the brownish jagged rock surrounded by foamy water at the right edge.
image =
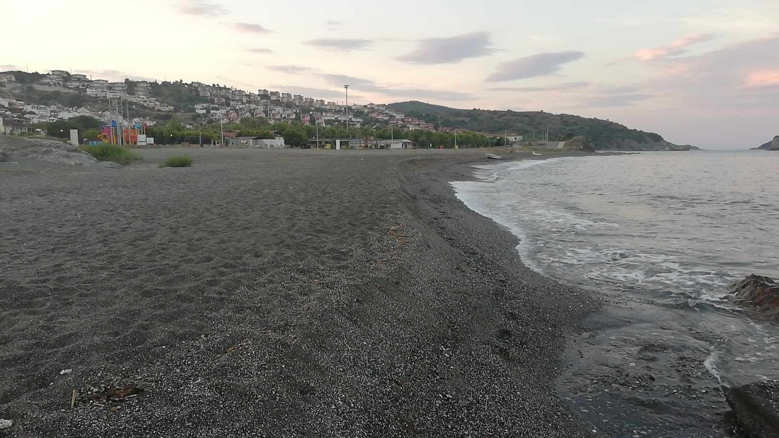
POLYGON ((779 284, 769 277, 749 275, 730 285, 728 300, 755 316, 779 323, 779 284))

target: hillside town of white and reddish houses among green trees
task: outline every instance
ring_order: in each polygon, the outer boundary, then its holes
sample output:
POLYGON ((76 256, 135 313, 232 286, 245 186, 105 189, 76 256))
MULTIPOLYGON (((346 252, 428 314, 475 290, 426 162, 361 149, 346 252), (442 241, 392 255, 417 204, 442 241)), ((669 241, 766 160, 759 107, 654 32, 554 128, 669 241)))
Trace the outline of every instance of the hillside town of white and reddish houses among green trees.
POLYGON ((218 84, 182 81, 157 83, 125 79, 122 82, 109 82, 106 79, 90 79, 84 74, 72 74, 65 70, 51 70, 44 75, 38 75, 38 79, 33 83, 22 83, 16 76, 19 76, 19 72, 0 73, 0 131, 8 134, 32 132, 40 123, 66 120, 80 115, 96 118, 107 124, 117 121, 120 125, 153 126, 160 120, 159 115, 181 113, 193 115, 185 122, 187 128, 192 128, 195 120, 229 124, 254 118, 268 123, 300 122, 303 125, 321 127, 348 123, 354 129, 371 124, 387 125, 406 131, 468 131, 436 126, 432 122, 393 111, 387 108, 386 104, 348 104, 347 107, 341 102, 324 101, 277 90, 260 89, 253 92, 218 84), (179 87, 183 90, 182 93, 193 97, 192 103, 176 104, 164 101, 157 91, 166 85, 179 87), (77 96, 82 98, 79 100, 83 101, 83 104, 67 106, 61 102, 40 104, 23 101, 14 97, 21 89, 30 93, 57 93, 60 97, 77 96), (5 93, 2 93, 3 91, 5 93), (133 112, 142 112, 144 116, 135 116, 133 112))

